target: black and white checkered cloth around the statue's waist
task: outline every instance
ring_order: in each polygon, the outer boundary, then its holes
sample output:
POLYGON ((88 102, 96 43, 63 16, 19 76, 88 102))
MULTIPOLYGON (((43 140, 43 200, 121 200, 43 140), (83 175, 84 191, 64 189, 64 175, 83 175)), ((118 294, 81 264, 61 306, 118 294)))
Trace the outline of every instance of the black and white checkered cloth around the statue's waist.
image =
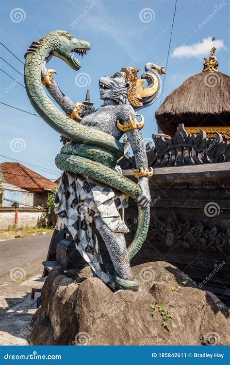
POLYGON ((105 186, 65 171, 54 197, 55 212, 72 235, 76 249, 93 272, 115 289, 113 276, 103 266, 93 219, 99 216, 113 232, 127 233, 118 209, 128 206, 128 197, 105 186))

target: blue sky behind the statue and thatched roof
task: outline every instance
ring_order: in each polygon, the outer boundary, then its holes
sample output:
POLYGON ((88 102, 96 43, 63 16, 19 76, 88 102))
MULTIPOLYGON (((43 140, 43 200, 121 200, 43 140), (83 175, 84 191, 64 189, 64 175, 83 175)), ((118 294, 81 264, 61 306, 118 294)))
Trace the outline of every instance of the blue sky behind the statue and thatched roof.
MULTIPOLYGON (((162 75, 163 94, 141 110, 146 143, 157 131, 154 115, 160 101, 202 71, 203 57, 209 58, 213 46, 212 37, 216 39, 219 71, 229 74, 229 5, 228 0, 177 0, 166 75, 162 75)), ((57 71, 55 81, 73 101, 83 102, 89 89, 98 108, 102 104, 100 76, 111 76, 125 66, 139 68, 141 75, 147 62, 166 66, 175 0, 1 0, 0 7, 1 42, 22 62, 32 41, 55 29, 91 43, 78 72, 56 57, 49 62, 49 68, 57 71)), ((0 101, 35 113, 19 74, 23 64, 1 44, 0 51, 8 62, 0 58, 0 101)), ((40 117, 0 107, 0 154, 7 156, 0 162, 22 161, 50 180, 57 179, 60 171, 54 159, 62 146, 59 134, 40 117)))

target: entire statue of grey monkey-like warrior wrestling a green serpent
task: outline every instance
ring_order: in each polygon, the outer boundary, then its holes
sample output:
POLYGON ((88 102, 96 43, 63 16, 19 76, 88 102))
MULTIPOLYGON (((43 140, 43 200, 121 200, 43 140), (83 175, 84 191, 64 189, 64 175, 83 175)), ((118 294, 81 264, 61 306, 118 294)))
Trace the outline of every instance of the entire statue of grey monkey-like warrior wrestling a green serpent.
POLYGON ((132 280, 130 260, 148 233, 148 178, 153 174, 148 169, 140 130, 144 118, 137 111, 159 96, 159 74, 165 71, 163 66, 147 63, 141 79, 137 76, 139 70, 132 67, 122 68, 111 77, 102 76, 99 92, 103 105, 94 110, 87 103, 73 103, 55 83, 52 76, 55 70, 46 68, 55 55, 77 71, 81 63, 72 52, 83 56, 89 49, 88 42, 65 31, 53 31, 34 41, 25 54, 25 85, 37 113, 64 136, 65 144, 55 159, 55 164, 64 171, 54 198, 56 213, 72 235, 76 248, 101 280, 114 290, 135 291, 138 284, 132 280), (66 115, 49 100, 42 84, 66 115), (124 154, 119 142, 124 133, 128 139, 126 146, 131 145, 135 156, 136 169, 132 172, 138 184, 123 177, 117 165, 124 154), (118 210, 127 206, 128 196, 138 204, 138 227, 127 250, 124 233, 129 229, 118 210), (93 221, 111 256, 114 277, 102 265, 93 221))

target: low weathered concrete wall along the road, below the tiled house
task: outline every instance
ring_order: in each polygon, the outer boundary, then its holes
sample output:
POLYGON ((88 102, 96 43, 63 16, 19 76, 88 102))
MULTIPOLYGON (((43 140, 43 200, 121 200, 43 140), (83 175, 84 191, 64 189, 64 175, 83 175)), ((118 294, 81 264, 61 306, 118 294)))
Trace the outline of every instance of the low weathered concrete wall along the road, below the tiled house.
MULTIPOLYGON (((17 228, 33 228, 44 219, 46 212, 35 208, 19 208, 17 211, 17 228)), ((15 225, 15 209, 0 207, 0 230, 7 230, 15 225)))

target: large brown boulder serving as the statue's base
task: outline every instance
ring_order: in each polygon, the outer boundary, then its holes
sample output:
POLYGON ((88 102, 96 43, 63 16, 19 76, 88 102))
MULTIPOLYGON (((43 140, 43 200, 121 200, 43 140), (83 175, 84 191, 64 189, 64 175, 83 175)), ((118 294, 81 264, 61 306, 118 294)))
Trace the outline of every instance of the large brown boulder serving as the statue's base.
POLYGON ((230 345, 229 310, 214 294, 198 289, 164 261, 135 266, 132 272, 138 292, 113 292, 87 269, 76 277, 53 269, 32 320, 30 343, 230 345), (173 318, 165 318, 167 312, 173 318))

